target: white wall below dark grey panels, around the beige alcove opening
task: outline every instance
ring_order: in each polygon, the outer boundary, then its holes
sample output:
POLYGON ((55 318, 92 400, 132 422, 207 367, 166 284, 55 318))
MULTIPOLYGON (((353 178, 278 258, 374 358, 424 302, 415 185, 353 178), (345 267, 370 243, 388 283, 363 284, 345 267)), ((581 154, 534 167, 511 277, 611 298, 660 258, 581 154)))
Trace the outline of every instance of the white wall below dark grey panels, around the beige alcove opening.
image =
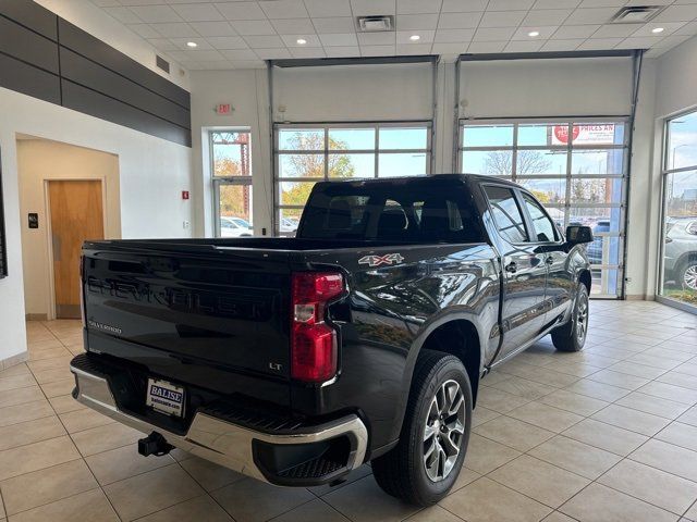
POLYGON ((16 135, 101 150, 119 157, 124 238, 188 237, 191 149, 70 109, 0 88, 0 149, 10 277, 0 279, 0 360, 26 349, 16 135))

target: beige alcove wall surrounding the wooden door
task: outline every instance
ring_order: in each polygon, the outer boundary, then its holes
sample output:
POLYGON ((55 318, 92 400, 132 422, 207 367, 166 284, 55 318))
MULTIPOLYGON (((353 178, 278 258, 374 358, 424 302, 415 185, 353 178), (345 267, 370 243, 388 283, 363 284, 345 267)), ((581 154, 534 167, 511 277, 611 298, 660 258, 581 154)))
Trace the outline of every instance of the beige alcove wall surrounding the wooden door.
POLYGON ((49 223, 46 182, 50 179, 98 179, 105 194, 105 238, 121 237, 119 157, 47 139, 17 141, 20 211, 36 212, 39 227, 22 223, 24 304, 27 315, 52 319, 49 223))

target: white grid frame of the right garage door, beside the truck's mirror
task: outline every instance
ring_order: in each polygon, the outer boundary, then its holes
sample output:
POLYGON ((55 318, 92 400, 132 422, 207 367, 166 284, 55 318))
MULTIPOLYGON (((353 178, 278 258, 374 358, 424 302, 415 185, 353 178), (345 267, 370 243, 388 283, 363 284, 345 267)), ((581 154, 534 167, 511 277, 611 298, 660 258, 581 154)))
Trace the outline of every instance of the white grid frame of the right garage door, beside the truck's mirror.
MULTIPOLYGON (((616 271, 616 287, 614 294, 608 294, 607 289, 603 288, 603 291, 598 295, 594 295, 594 298, 614 298, 621 299, 624 293, 624 285, 622 281, 624 279, 625 266, 624 266, 624 252, 626 249, 626 202, 627 202, 627 191, 629 184, 629 157, 628 157, 628 146, 629 146, 629 134, 631 128, 629 117, 628 116, 607 116, 607 117, 518 117, 518 119, 460 119, 457 125, 457 142, 456 142, 456 169, 457 172, 463 172, 463 152, 464 151, 511 151, 512 153, 512 163, 511 163, 511 175, 491 175, 493 182, 497 178, 503 181, 512 181, 513 183, 521 183, 522 181, 563 181, 565 183, 563 201, 559 203, 547 203, 543 204, 545 211, 549 216, 548 209, 559 209, 563 212, 563 226, 561 226, 562 231, 565 231, 570 224, 570 217, 572 215, 573 209, 609 209, 610 212, 613 209, 619 209, 619 223, 620 227, 617 231, 609 231, 609 232, 599 232, 596 234, 596 237, 608 237, 608 238, 619 238, 617 246, 617 263, 602 263, 602 264, 591 264, 591 270, 600 271, 601 274, 606 274, 610 271, 616 271), (591 125, 591 124, 623 124, 624 133, 623 133, 623 144, 622 145, 574 145, 572 140, 568 140, 566 145, 552 146, 552 145, 518 145, 518 129, 521 126, 527 125, 560 125, 565 124, 567 126, 567 134, 571 135, 574 125, 591 125), (467 147, 463 144, 465 127, 467 126, 512 126, 513 127, 513 137, 512 144, 510 146, 477 146, 477 147, 467 147), (516 172, 517 166, 517 157, 521 150, 560 150, 564 151, 566 154, 566 171, 563 175, 558 174, 533 174, 533 175, 518 175, 516 172), (621 174, 572 174, 572 160, 573 152, 578 150, 622 150, 622 173, 621 174), (611 203, 597 203, 597 202, 587 202, 587 203, 576 203, 572 202, 572 181, 574 179, 620 179, 620 198, 619 202, 611 203)), ((486 174, 478 175, 487 176, 486 174)), ((530 194, 530 190, 526 187, 519 186, 521 190, 524 190, 530 194)), ((537 200, 537 198, 535 198, 537 200)), ((614 199, 614 198, 613 198, 614 199)), ((526 212, 527 210, 524 209, 526 212)), ((527 214, 526 214, 527 215, 527 214)), ((554 220, 552 220, 554 222, 554 220)), ((555 223, 554 223, 555 224, 555 223)), ((558 232, 559 231, 558 226, 558 232)), ((561 234, 563 237, 563 234, 561 234)), ((607 239, 610 241, 612 239, 607 239)), ((603 241, 604 243, 604 241, 603 241)), ((601 281, 606 281, 604 277, 601 281)))

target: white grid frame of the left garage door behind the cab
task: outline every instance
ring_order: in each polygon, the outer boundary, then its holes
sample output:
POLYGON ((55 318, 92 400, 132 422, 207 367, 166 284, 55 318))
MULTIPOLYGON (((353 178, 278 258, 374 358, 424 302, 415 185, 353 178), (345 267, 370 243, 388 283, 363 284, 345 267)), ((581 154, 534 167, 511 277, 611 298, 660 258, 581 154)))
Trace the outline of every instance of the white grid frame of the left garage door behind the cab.
MULTIPOLYGON (((273 124, 273 231, 276 235, 281 236, 284 233, 280 229, 281 211, 289 210, 302 210, 305 206, 299 204, 283 204, 281 203, 281 183, 298 183, 301 178, 280 176, 280 161, 284 154, 322 154, 325 166, 322 177, 305 177, 299 183, 318 183, 337 181, 334 177, 329 176, 329 156, 330 153, 337 153, 335 150, 329 148, 329 132, 330 129, 344 129, 344 128, 374 128, 375 129, 375 147, 371 149, 347 149, 342 151, 346 154, 374 154, 375 166, 372 177, 355 177, 352 179, 376 179, 380 177, 380 156, 381 154, 398 154, 398 153, 424 153, 425 158, 425 175, 430 174, 432 164, 432 122, 430 120, 417 120, 417 121, 375 121, 375 122, 304 122, 304 123, 276 123, 273 124), (321 150, 290 150, 280 149, 279 136, 280 132, 284 129, 323 129, 323 148, 321 150), (381 128, 424 128, 426 130, 426 149, 380 149, 380 129, 381 128)), ((298 223, 299 225, 299 223, 298 223)), ((299 229, 299 226, 298 226, 299 229)))

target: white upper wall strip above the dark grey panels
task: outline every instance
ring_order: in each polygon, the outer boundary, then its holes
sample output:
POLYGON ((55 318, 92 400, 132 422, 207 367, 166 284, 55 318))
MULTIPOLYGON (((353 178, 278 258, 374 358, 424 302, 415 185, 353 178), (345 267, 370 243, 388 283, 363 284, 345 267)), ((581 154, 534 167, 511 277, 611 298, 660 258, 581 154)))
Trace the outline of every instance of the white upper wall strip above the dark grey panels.
MULTIPOLYGON (((44 8, 58 14, 73 25, 109 44, 131 59, 145 65, 150 71, 166 77, 170 82, 188 90, 188 72, 172 60, 166 52, 158 51, 147 40, 133 33, 121 22, 118 22, 101 11, 89 0, 34 0, 44 8), (156 54, 160 54, 171 62, 170 74, 155 64, 156 54), (180 70, 184 74, 180 74, 180 70)), ((159 2, 152 2, 159 3, 159 2)), ((193 3, 193 2, 192 2, 193 3)), ((118 2, 117 2, 118 4, 118 2)))

